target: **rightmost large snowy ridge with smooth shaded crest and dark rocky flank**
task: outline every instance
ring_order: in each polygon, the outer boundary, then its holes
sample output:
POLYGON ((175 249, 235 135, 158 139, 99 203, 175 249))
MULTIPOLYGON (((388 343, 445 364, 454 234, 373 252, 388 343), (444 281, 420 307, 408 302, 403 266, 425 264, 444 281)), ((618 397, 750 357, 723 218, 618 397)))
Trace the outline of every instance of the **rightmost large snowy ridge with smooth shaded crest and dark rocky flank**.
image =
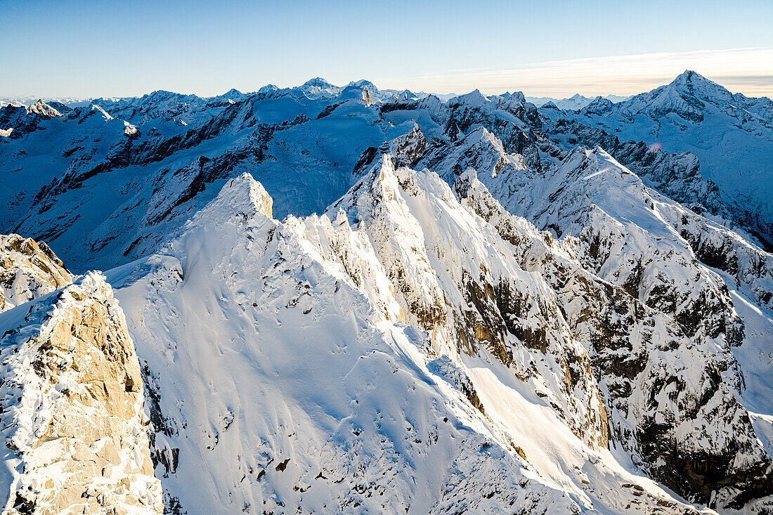
MULTIPOLYGON (((482 179, 492 182, 488 175, 483 175, 482 179)), ((729 481, 735 485, 729 489, 717 490, 716 500, 720 505, 727 503, 741 506, 750 497, 764 493, 768 488, 764 485, 771 482, 771 458, 764 448, 758 445, 754 429, 748 422, 748 415, 744 415, 746 410, 737 401, 743 391, 743 381, 739 365, 731 352, 731 346, 741 345, 744 340, 744 322, 734 309, 734 301, 723 278, 700 263, 693 253, 693 247, 679 235, 676 227, 695 227, 699 234, 700 230, 707 231, 703 235, 693 236, 693 240, 700 242, 703 238, 707 242, 704 247, 706 253, 701 256, 703 259, 713 252, 709 249, 710 242, 721 241, 726 236, 720 236, 723 233, 713 230, 706 220, 690 210, 650 192, 635 174, 621 166, 601 148, 577 148, 557 169, 547 174, 514 170, 511 175, 503 176, 502 182, 497 183, 494 179, 493 183, 497 186, 495 191, 501 195, 503 201, 509 203, 511 210, 524 213, 535 221, 537 227, 550 229, 553 234, 567 239, 567 244, 576 249, 577 261, 582 268, 621 288, 620 292, 603 304, 615 305, 615 311, 620 311, 621 305, 631 303, 625 300, 631 295, 632 300, 642 302, 654 310, 647 315, 646 311, 642 312, 643 306, 637 306, 638 302, 635 302, 627 315, 632 315, 631 320, 619 325, 618 322, 605 322, 606 329, 601 327, 598 336, 593 336, 591 330, 590 338, 576 333, 578 339, 592 343, 595 347, 596 366, 611 372, 610 375, 602 375, 600 382, 607 383, 605 386, 611 394, 611 405, 614 408, 612 414, 615 415, 611 419, 614 421, 613 428, 618 433, 617 438, 632 452, 635 462, 641 462, 645 468, 652 467, 653 476, 661 478, 674 489, 683 491, 686 496, 694 495, 696 499, 703 500, 713 496, 710 490, 722 484, 721 481, 716 483, 717 477, 727 475, 729 481), (677 220, 674 220, 675 217, 677 220), (703 223, 700 220, 703 220, 703 223), (577 237, 567 237, 567 234, 577 237), (615 332, 626 333, 628 329, 624 328, 635 328, 635 320, 641 320, 642 317, 652 317, 652 327, 657 328, 656 332, 652 333, 652 329, 646 328, 648 322, 641 329, 636 329, 642 331, 638 336, 631 333, 618 341, 619 335, 614 336, 615 332), (615 326, 619 329, 615 329, 611 334, 605 333, 615 326), (648 341, 669 340, 681 342, 675 344, 670 356, 669 353, 664 356, 663 350, 653 353, 647 349, 648 341), (625 343, 624 347, 628 348, 625 356, 629 356, 622 362, 619 356, 612 357, 623 348, 621 343, 625 343), (642 343, 643 346, 640 346, 642 343), (634 347, 630 347, 631 345, 634 347), (651 369, 647 364, 648 360, 654 365, 651 369), (662 363, 655 364, 659 360, 662 360, 662 363), (608 364, 604 364, 605 361, 608 364), (677 363, 700 365, 682 368, 677 363), (622 369, 615 372, 616 367, 622 369), (650 372, 641 377, 643 380, 635 380, 632 384, 622 387, 621 383, 628 382, 638 374, 636 370, 650 372), (655 373, 655 370, 659 372, 655 373), (631 394, 631 387, 654 393, 659 388, 657 377, 662 373, 665 373, 666 377, 673 377, 669 380, 676 380, 678 384, 683 385, 677 390, 679 395, 683 396, 683 401, 671 404, 665 398, 661 400, 656 396, 658 400, 654 404, 637 406, 634 401, 637 396, 631 394), (621 375, 621 378, 615 379, 615 375, 621 375), (711 377, 715 379, 712 380, 711 377), (610 382, 614 386, 610 386, 610 382), (725 406, 725 414, 721 416, 717 416, 714 407, 717 402, 725 406), (651 422, 660 417, 655 415, 655 418, 652 418, 652 413, 648 413, 652 408, 662 413, 665 419, 661 420, 676 421, 674 425, 668 423, 657 428, 652 426, 651 422), (666 414, 669 412, 671 414, 666 414), (623 418, 627 420, 615 421, 618 413, 623 414, 623 418), (734 421, 736 416, 744 420, 744 423, 738 424, 734 421), (689 423, 690 431, 686 431, 688 425, 679 422, 680 419, 685 422, 686 419, 693 419, 689 423), (635 429, 637 427, 639 429, 635 429), (717 430, 718 427, 724 429, 717 430), (691 433, 693 436, 686 438, 686 435, 691 433), (706 453, 690 443, 693 438, 703 438, 698 435, 714 435, 720 439, 713 450, 706 453), (720 445, 725 438, 720 435, 733 435, 732 438, 737 439, 737 442, 729 446, 724 443, 720 445), (658 451, 659 459, 654 459, 654 455, 651 458, 646 457, 652 454, 654 449, 665 448, 664 444, 665 447, 672 448, 673 454, 671 451, 658 451), (744 455, 746 462, 739 461, 741 455, 744 455), (700 458, 695 459, 695 456, 700 458), (730 456, 736 457, 736 461, 727 466, 730 456), (662 467, 662 464, 669 460, 673 464, 662 467), (694 476, 693 472, 690 472, 693 467, 700 469, 702 461, 713 463, 711 474, 716 476, 694 476), (754 472, 750 472, 751 470, 754 472), (744 479, 749 473, 758 475, 758 479, 744 479)), ((511 222, 510 225, 516 225, 516 222, 511 222)), ((683 234, 689 233, 683 229, 683 234)), ((732 247, 732 241, 727 240, 723 245, 732 247)), ((735 245, 747 251, 753 247, 744 246, 740 241, 735 245)), ((696 248, 700 247, 702 244, 696 243, 696 248)), ((717 247, 714 248, 716 251, 717 247)), ((756 265, 748 264, 747 261, 744 264, 747 272, 738 277, 754 278, 752 284, 759 292, 761 285, 767 281, 767 272, 759 267, 766 261, 764 253, 759 249, 757 253, 758 256, 750 260, 756 265), (754 272, 751 272, 752 269, 754 272)), ((567 275, 567 271, 564 270, 558 276, 563 275, 567 275)), ((584 275, 584 272, 575 270, 568 275, 577 278, 584 275)), ((546 277, 553 276, 553 273, 550 273, 546 277)), ((604 288, 601 288, 600 292, 604 294, 604 288)), ((571 294, 570 298, 575 296, 576 292, 571 294)), ((602 298, 606 296, 607 294, 601 295, 602 298)), ((591 298, 591 305, 594 302, 591 298)), ((577 322, 572 321, 574 309, 570 305, 564 305, 564 312, 569 315, 570 325, 575 326, 577 322)), ((605 317, 608 315, 599 313, 587 320, 604 320, 605 317)), ((582 326, 579 327, 582 329, 582 326)), ((766 348, 764 343, 761 348, 766 348)), ((757 370, 758 366, 754 365, 751 370, 757 370)), ((759 395, 758 392, 760 388, 755 386, 755 397, 759 395)), ((644 394, 643 398, 648 396, 649 394, 644 394)))

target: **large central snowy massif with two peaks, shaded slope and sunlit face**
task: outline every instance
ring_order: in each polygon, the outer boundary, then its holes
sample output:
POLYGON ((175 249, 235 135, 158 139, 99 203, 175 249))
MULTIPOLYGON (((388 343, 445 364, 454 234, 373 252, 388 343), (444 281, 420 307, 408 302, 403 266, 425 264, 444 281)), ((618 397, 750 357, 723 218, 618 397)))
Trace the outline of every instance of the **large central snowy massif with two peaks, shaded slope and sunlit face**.
POLYGON ((168 506, 577 513, 635 498, 695 513, 611 456, 587 356, 547 285, 518 271, 437 175, 380 158, 329 214, 281 223, 250 208, 251 180, 226 184, 163 251, 113 272, 147 362, 168 506), (373 217, 391 220, 393 241, 373 217), (412 277, 395 278, 387 246, 416 261, 412 277), (492 290, 503 267, 516 275, 509 291, 538 297, 510 320, 524 343, 495 325, 491 298, 464 296, 492 290), (405 296, 422 282, 441 305, 420 326, 405 296), (437 352, 461 322, 466 343, 437 352), (537 325, 550 328, 544 341, 528 333, 537 325), (534 424, 508 418, 520 410, 534 424))

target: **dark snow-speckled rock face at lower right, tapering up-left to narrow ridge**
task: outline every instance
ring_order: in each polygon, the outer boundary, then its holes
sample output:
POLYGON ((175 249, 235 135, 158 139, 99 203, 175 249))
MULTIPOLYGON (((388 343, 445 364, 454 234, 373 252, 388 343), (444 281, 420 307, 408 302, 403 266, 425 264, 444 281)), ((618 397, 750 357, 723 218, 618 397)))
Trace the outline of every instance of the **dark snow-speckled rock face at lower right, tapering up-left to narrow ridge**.
MULTIPOLYGON (((588 346, 594 373, 608 392, 615 439, 635 462, 684 496, 704 503, 711 499, 718 506, 740 508, 773 488, 771 458, 737 401, 737 363, 727 348, 703 343, 711 336, 701 331, 704 336, 696 337, 698 329, 680 324, 678 315, 676 321, 662 315, 668 306, 644 305, 630 281, 609 285, 563 257, 553 250, 553 238, 540 237, 525 220, 502 209, 472 172, 458 180, 455 191, 516 246, 525 268, 540 271, 555 288, 575 338, 588 346)), ((562 243, 573 250, 572 240, 562 243)), ((582 236, 578 243, 575 252, 587 252, 582 236)), ((645 277, 638 272, 638 281, 645 277)), ((732 305, 724 298, 713 309, 724 311, 722 303, 732 305)), ((703 304, 696 316, 710 320, 711 310, 703 304)))

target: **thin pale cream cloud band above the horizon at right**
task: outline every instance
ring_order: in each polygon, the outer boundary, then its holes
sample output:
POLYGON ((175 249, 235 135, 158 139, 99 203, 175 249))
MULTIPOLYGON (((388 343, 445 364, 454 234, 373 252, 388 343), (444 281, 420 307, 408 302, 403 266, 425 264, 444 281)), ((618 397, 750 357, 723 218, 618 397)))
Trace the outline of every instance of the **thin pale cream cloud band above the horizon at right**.
POLYGON ((531 63, 506 70, 445 70, 383 77, 383 87, 485 94, 522 90, 531 96, 637 94, 667 84, 684 70, 748 96, 773 97, 773 47, 646 53, 531 63))

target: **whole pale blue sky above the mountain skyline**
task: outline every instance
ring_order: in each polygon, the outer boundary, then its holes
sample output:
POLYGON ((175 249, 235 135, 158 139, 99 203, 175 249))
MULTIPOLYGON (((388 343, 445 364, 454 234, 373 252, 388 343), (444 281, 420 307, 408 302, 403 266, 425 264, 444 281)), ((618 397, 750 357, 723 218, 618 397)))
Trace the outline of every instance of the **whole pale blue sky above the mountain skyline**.
POLYGON ((773 1, 0 0, 0 97, 333 84, 636 94, 686 69, 773 97, 773 1))

